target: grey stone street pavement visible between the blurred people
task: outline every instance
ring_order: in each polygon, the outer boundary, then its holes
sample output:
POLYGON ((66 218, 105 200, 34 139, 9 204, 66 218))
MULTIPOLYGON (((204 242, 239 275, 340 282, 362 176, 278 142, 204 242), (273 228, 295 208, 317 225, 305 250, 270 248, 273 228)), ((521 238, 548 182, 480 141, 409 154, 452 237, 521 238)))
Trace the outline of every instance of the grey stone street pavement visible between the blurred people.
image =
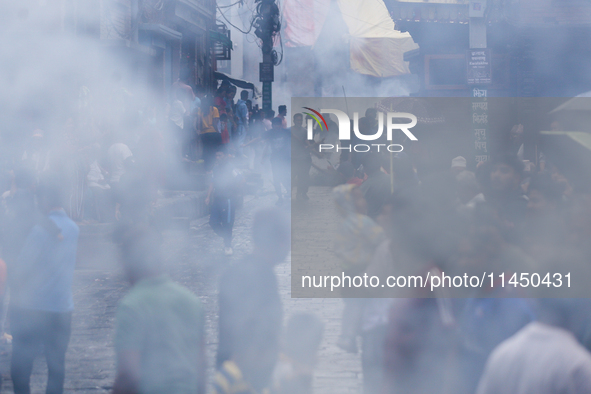
MULTIPOLYGON (((326 204, 329 188, 311 188, 306 204, 326 204)), ((221 238, 211 231, 207 218, 191 223, 191 229, 167 230, 165 238, 166 268, 171 277, 194 291, 206 311, 207 354, 213 377, 213 363, 217 348, 217 282, 220 274, 240 260, 251 249, 250 227, 253 213, 276 201, 271 189, 258 197, 245 197, 244 207, 237 213, 234 227, 234 256, 223 254, 221 238)), ((297 211, 297 210, 296 210, 297 211)), ((296 212, 294 211, 294 212, 296 212)), ((319 221, 333 220, 317 217, 319 221)), ((108 240, 95 240, 92 256, 79 263, 74 277, 75 311, 72 317, 72 337, 67 353, 65 392, 103 393, 111 390, 115 379, 113 335, 118 301, 128 285, 117 265, 114 248, 108 240)), ((86 242, 92 242, 87 240, 86 242)), ((342 301, 336 298, 291 298, 290 259, 276 269, 284 302, 285 316, 295 312, 312 312, 325 324, 325 335, 315 372, 316 393, 361 392, 361 363, 359 355, 345 353, 336 347, 340 330, 342 301)), ((4 345, 0 353, 2 392, 12 392, 10 381, 10 347, 4 345)), ((32 392, 41 392, 46 381, 45 360, 38 357, 31 377, 32 392)))

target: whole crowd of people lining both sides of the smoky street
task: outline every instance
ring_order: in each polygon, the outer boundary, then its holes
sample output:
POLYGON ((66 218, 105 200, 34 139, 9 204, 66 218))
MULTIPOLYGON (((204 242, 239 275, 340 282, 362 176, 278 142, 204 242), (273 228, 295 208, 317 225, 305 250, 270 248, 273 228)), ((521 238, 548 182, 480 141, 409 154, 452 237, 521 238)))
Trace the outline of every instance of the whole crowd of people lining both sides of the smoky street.
MULTIPOLYGON (((162 235, 150 220, 168 169, 202 165, 210 180, 209 223, 230 255, 244 183, 239 170, 260 170, 268 157, 277 205, 290 206, 292 183, 305 202, 312 158, 329 137, 316 128, 308 140, 302 114, 288 128, 285 106, 275 116, 253 108, 245 90, 234 103, 236 91, 226 83, 212 96, 195 94, 178 81, 167 111, 124 106, 111 123, 101 123, 81 110, 51 138, 38 129, 3 152, 0 279, 7 276, 10 289, 15 393, 30 392, 41 348, 47 392, 63 392, 79 224, 86 215, 119 222, 114 240, 132 284, 116 315, 113 391, 205 392, 203 307, 166 276, 162 235), (83 209, 87 194, 90 210, 83 209)), ((87 95, 83 89, 82 109, 87 95)), ((373 112, 360 129, 373 127, 373 112)), ((334 197, 343 222, 334 250, 343 272, 425 277, 487 270, 510 277, 585 267, 588 191, 572 186, 545 158, 536 166, 517 154, 499 152, 472 169, 465 158, 450 158, 448 168, 426 174, 412 154, 343 151, 340 163, 326 169, 340 184, 334 197)), ((304 313, 283 327, 273 268, 290 250, 285 210, 258 212, 252 239, 253 252, 220 280, 213 391, 310 393, 323 324, 304 313)), ((361 352, 364 393, 591 392, 585 299, 527 298, 528 289, 514 286, 466 288, 455 298, 445 291, 425 298, 425 291, 411 289, 404 298, 343 293, 338 346, 361 352)))

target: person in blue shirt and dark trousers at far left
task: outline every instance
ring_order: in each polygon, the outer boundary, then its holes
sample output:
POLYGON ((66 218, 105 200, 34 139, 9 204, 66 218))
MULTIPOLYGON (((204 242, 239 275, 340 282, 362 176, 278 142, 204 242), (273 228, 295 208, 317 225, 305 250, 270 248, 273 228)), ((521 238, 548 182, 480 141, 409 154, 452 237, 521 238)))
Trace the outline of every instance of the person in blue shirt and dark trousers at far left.
POLYGON ((29 393, 33 361, 43 346, 48 369, 46 392, 62 393, 79 229, 62 208, 59 177, 47 175, 42 179, 38 199, 46 220, 53 225, 33 227, 9 273, 11 376, 15 393, 29 393))

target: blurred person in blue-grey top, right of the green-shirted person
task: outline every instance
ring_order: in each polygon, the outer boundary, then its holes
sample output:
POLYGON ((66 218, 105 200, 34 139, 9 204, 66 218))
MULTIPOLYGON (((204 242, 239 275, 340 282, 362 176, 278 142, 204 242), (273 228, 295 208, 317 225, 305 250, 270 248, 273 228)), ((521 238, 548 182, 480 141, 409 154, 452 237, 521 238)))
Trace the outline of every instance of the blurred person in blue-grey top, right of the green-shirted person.
POLYGON ((288 217, 277 209, 261 210, 252 231, 253 253, 220 280, 217 394, 261 392, 269 387, 279 356, 283 306, 273 269, 289 253, 288 217))

